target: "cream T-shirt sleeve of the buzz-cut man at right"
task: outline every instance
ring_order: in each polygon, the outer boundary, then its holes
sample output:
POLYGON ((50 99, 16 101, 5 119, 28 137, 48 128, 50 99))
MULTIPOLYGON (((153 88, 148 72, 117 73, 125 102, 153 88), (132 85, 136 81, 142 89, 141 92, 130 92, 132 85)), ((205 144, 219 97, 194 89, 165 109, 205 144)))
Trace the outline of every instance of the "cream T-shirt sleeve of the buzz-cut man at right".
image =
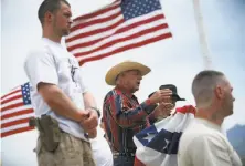
POLYGON ((189 157, 192 165, 231 166, 231 157, 224 142, 215 135, 200 136, 191 142, 189 157))

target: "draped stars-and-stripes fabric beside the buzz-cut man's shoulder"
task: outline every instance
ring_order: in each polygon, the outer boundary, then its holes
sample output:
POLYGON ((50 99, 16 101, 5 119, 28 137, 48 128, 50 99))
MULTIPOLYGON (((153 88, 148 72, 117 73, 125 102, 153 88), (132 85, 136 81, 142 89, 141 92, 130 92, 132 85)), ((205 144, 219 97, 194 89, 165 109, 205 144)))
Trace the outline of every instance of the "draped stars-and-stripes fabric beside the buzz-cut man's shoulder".
POLYGON ((177 166, 177 153, 182 132, 194 120, 192 105, 179 107, 169 116, 136 134, 135 166, 177 166))

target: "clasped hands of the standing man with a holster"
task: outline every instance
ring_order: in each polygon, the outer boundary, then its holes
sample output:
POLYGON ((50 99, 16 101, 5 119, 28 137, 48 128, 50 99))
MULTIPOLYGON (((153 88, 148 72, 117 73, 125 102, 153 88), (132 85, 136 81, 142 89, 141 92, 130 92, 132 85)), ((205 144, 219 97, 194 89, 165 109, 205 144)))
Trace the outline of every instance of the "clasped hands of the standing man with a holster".
POLYGON ((79 124, 84 128, 85 133, 88 133, 89 131, 96 129, 98 126, 98 115, 94 110, 86 110, 85 112, 87 112, 87 115, 81 120, 79 124))

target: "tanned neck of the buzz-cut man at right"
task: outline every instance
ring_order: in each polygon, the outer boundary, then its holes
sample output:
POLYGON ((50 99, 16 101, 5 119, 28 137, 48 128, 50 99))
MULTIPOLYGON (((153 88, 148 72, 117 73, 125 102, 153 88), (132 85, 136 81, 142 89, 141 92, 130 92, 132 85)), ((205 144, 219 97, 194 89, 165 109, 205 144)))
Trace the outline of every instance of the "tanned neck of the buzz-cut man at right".
POLYGON ((210 106, 204 106, 204 107, 200 107, 196 104, 196 107, 198 107, 198 112, 195 114, 196 118, 203 118, 210 121, 219 126, 222 125, 224 121, 224 115, 222 115, 222 111, 220 108, 215 107, 212 104, 210 106))

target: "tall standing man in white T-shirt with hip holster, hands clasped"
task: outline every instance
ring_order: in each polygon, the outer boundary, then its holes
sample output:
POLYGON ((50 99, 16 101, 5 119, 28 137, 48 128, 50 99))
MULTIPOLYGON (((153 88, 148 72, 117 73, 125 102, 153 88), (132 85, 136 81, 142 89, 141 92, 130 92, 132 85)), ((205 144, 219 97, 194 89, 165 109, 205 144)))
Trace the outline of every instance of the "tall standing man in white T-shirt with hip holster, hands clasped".
POLYGON ((24 63, 36 117, 46 115, 58 124, 55 129, 51 128, 55 123, 46 128, 42 127, 49 124, 38 125, 36 155, 41 166, 95 166, 88 138, 97 135, 98 112, 83 84, 77 60, 61 45, 62 37, 70 32, 71 17, 66 0, 44 0, 39 8, 43 38, 24 63), (52 132, 45 133, 49 129, 54 131, 51 137, 52 132), (50 146, 49 138, 54 139, 54 145, 58 142, 57 146, 50 146))

